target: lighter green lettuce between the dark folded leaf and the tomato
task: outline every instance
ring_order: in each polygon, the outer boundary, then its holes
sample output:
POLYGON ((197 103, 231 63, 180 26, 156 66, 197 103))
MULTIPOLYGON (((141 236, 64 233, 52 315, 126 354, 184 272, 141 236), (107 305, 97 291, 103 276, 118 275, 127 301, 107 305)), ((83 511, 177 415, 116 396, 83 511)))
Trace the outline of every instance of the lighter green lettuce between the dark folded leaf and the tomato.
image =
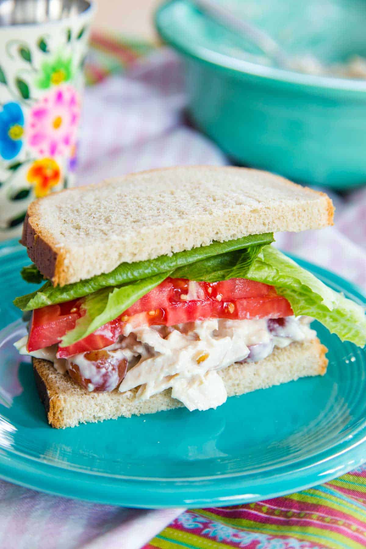
POLYGON ((366 317, 363 308, 335 292, 273 246, 265 246, 248 270, 247 254, 233 251, 187 265, 171 273, 157 275, 121 288, 104 289, 86 298, 86 316, 67 333, 62 345, 71 345, 119 316, 166 276, 216 282, 228 278, 249 278, 275 286, 289 300, 295 315, 308 315, 324 324, 340 339, 363 347, 366 343, 366 317))

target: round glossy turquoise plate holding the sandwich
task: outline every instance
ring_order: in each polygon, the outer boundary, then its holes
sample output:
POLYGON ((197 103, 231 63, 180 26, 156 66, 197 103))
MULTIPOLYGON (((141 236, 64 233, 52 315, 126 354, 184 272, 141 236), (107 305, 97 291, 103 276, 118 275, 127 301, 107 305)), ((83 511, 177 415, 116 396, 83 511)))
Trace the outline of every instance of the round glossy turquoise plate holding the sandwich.
MULTIPOLYGON (((27 263, 14 240, 0 245, 0 323, 7 326, 0 333, 2 478, 115 505, 207 507, 295 492, 365 461, 365 350, 341 343, 320 324, 319 337, 330 349, 325 377, 232 397, 207 412, 181 408, 50 428, 30 363, 12 346, 25 333, 12 299, 29 291, 18 275, 27 263)), ((366 304, 349 282, 299 263, 366 304)))

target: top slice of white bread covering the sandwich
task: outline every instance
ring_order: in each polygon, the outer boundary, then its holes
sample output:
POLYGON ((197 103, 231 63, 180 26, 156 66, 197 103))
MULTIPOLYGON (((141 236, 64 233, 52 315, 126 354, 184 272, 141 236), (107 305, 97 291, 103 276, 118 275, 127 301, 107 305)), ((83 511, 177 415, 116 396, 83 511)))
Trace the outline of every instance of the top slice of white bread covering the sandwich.
POLYGON ((326 194, 268 172, 173 167, 35 200, 21 243, 42 274, 63 286, 213 240, 326 227, 333 213, 326 194))

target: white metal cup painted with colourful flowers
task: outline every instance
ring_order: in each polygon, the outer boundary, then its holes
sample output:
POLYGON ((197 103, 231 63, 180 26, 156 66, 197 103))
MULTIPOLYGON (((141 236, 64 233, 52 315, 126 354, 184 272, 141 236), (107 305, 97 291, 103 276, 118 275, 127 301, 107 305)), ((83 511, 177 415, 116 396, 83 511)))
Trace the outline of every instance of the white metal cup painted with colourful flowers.
POLYGON ((88 0, 0 2, 0 240, 19 236, 32 200, 74 182, 93 14, 88 0))

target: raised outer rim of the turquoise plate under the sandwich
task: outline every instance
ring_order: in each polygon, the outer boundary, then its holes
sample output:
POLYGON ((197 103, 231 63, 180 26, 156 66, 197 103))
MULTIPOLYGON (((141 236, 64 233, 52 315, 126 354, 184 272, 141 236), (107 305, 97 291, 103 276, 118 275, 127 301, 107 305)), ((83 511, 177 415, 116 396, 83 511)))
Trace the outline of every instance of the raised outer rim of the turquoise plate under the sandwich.
MULTIPOLYGON (((4 248, 13 248, 13 251, 16 251, 16 248, 21 250, 19 241, 16 239, 1 243, 0 251, 4 248)), ((359 301, 366 302, 365 290, 356 284, 324 267, 300 259, 293 254, 288 255, 305 268, 315 271, 318 276, 331 279, 333 283, 339 285, 342 290, 350 292, 359 301)), ((15 323, 19 324, 19 320, 15 323)), ((1 330, 0 335, 13 325, 14 322, 8 324, 1 330)), ((295 469, 292 464, 279 465, 274 469, 264 469, 263 473, 268 474, 262 478, 260 472, 258 485, 256 485, 258 493, 256 494, 248 492, 250 486, 254 487, 251 478, 254 473, 250 472, 179 479, 116 476, 80 468, 61 467, 57 463, 47 463, 4 447, 0 447, 0 477, 15 484, 46 491, 50 494, 109 503, 110 505, 144 508, 234 505, 234 503, 260 501, 306 489, 360 466, 366 462, 366 452, 364 452, 366 446, 365 423, 366 418, 362 427, 352 435, 351 441, 348 436, 345 438, 346 440, 341 440, 322 452, 297 460, 295 469), (357 437, 356 440, 355 437, 357 437), (157 483, 160 483, 158 490, 156 490, 157 483), (206 486, 202 486, 202 483, 206 486), (275 488, 276 485, 277 488, 275 488), (174 492, 171 490, 172 486, 174 486, 174 492), (280 489, 285 486, 286 488, 280 489), (212 492, 208 499, 202 497, 205 489, 212 492)))

